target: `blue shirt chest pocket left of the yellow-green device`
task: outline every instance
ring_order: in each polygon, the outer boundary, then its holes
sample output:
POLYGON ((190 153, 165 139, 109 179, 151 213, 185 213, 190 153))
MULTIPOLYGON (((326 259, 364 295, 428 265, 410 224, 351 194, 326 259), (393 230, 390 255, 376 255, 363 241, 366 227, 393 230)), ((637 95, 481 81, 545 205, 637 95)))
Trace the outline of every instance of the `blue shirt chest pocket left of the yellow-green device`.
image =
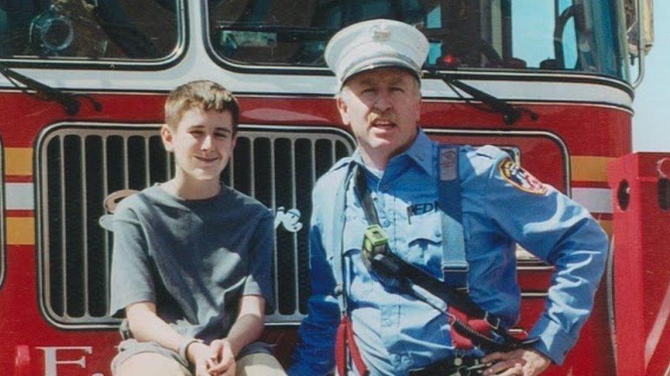
POLYGON ((347 221, 343 239, 345 260, 350 271, 348 296, 354 302, 365 299, 373 288, 373 277, 363 264, 360 252, 366 228, 366 223, 352 218, 347 221))

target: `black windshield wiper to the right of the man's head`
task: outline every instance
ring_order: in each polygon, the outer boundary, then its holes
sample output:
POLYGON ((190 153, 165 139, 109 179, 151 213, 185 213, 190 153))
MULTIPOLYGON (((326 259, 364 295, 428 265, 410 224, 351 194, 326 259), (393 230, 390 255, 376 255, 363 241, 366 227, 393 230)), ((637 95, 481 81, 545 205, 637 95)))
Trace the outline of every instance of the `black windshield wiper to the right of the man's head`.
POLYGON ((538 120, 538 114, 535 114, 535 112, 527 110, 526 108, 514 107, 513 105, 507 103, 506 101, 503 101, 502 99, 498 99, 493 95, 488 94, 487 92, 483 92, 482 90, 475 88, 474 86, 465 84, 465 82, 462 82, 460 79, 458 79, 456 75, 441 72, 435 66, 424 66, 424 69, 426 69, 426 71, 428 71, 430 75, 439 77, 439 79, 441 79, 445 84, 447 84, 447 86, 449 86, 452 90, 454 90, 454 92, 459 97, 465 99, 466 103, 474 105, 474 107, 478 108, 479 110, 484 110, 478 105, 475 105, 474 103, 470 102, 470 99, 464 98, 463 95, 461 95, 461 93, 455 88, 463 90, 463 92, 466 92, 473 99, 482 101, 487 106, 489 106, 489 108, 491 108, 494 112, 500 112, 500 114, 502 114, 502 121, 505 121, 506 124, 511 125, 513 123, 516 123, 516 121, 518 121, 519 118, 521 118, 521 114, 523 112, 529 114, 531 120, 533 121, 538 120))

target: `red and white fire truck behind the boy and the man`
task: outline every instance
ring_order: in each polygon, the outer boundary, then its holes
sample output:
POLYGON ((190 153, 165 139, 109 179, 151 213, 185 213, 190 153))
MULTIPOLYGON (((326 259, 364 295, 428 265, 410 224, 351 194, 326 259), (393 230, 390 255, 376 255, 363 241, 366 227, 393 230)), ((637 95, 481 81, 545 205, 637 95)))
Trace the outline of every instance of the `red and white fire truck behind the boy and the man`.
MULTIPOLYGON (((668 375, 670 155, 632 153, 631 137, 651 0, 0 1, 0 373, 111 374, 107 198, 170 179, 163 103, 194 79, 240 100, 222 180, 275 213, 264 339, 288 364, 310 296, 310 190, 355 147, 323 49, 370 18, 430 40, 430 137, 501 147, 610 235, 592 315, 546 375, 668 375)), ((517 263, 524 336, 553 268, 524 249, 517 263)))

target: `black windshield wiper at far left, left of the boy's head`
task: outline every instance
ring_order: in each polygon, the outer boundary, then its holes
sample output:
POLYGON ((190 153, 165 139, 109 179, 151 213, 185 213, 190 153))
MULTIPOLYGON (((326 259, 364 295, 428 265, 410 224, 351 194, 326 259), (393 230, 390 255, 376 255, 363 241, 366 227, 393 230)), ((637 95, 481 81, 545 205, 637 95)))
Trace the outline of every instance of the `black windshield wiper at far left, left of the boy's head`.
POLYGON ((57 88, 52 88, 51 86, 47 86, 45 84, 42 84, 41 82, 38 82, 30 77, 27 77, 25 75, 22 75, 19 72, 16 72, 12 70, 12 68, 9 68, 8 66, 5 66, 4 64, 0 64, 0 73, 7 77, 9 82, 11 82, 16 88, 19 88, 22 92, 25 92, 28 95, 32 95, 30 92, 27 92, 25 88, 30 88, 32 90, 35 90, 35 92, 38 92, 40 95, 37 96, 38 98, 44 99, 46 101, 57 101, 63 106, 63 110, 65 110, 65 113, 68 114, 69 116, 74 116, 79 113, 80 108, 82 107, 82 103, 80 103, 78 97, 84 97, 87 98, 91 101, 93 104, 93 109, 97 112, 100 112, 102 110, 102 105, 93 99, 90 95, 84 95, 84 94, 70 94, 69 92, 64 92, 60 89, 57 88), (19 86, 16 82, 20 82, 25 86, 19 86))

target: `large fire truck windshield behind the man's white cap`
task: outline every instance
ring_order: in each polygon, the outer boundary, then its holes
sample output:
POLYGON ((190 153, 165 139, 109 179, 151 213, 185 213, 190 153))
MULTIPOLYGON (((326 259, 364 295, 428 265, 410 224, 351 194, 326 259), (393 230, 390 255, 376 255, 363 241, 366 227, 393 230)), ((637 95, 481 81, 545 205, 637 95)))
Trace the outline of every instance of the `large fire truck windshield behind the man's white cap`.
POLYGON ((312 70, 332 34, 370 18, 415 25, 430 40, 427 63, 443 68, 629 79, 615 0, 209 1, 209 40, 227 64, 312 70))

